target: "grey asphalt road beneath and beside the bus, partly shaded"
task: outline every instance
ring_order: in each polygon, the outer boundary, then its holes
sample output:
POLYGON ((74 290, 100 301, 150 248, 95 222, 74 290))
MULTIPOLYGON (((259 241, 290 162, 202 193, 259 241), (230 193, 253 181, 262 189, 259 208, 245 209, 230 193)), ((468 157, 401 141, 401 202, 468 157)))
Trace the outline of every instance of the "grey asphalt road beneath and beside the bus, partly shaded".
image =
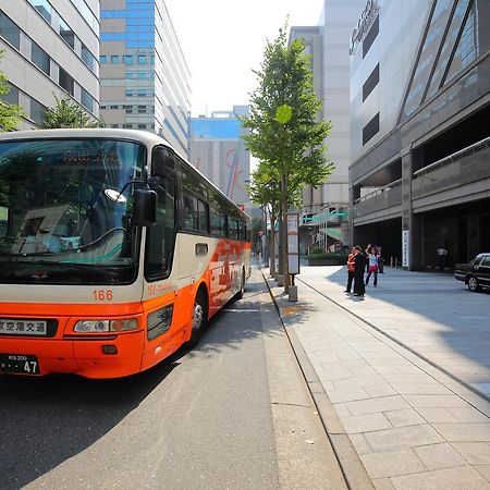
POLYGON ((201 343, 126 379, 0 378, 0 489, 344 488, 258 273, 201 343))

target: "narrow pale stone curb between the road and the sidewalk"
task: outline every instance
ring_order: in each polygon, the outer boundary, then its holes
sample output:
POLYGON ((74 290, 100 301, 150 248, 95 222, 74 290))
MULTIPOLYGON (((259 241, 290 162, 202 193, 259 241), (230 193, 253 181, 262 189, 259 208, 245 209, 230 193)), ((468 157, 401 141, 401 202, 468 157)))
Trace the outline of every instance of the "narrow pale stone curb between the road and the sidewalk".
POLYGON ((323 385, 315 371, 315 368, 309 362, 308 355, 303 348, 296 332, 291 327, 284 324, 281 315, 281 306, 275 301, 269 281, 264 275, 261 268, 260 273, 262 274, 264 281, 269 290, 269 294, 274 303, 275 309, 278 310, 282 327, 299 365, 299 369, 308 387, 308 391, 311 394, 315 406, 320 416, 321 424, 333 449, 333 453, 344 476, 347 488, 363 490, 375 489, 372 481, 367 474, 366 468, 364 467, 348 434, 345 432, 342 421, 330 402, 330 399, 328 397, 323 385))

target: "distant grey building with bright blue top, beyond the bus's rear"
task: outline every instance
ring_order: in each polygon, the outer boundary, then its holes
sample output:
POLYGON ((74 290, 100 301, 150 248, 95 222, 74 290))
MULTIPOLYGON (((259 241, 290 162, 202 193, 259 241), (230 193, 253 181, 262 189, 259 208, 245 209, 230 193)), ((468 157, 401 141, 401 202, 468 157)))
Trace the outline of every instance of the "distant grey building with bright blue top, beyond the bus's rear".
POLYGON ((246 182, 250 179, 250 156, 242 139, 247 130, 237 119, 241 115, 248 115, 248 106, 213 111, 210 118, 192 118, 191 163, 249 213, 246 182))

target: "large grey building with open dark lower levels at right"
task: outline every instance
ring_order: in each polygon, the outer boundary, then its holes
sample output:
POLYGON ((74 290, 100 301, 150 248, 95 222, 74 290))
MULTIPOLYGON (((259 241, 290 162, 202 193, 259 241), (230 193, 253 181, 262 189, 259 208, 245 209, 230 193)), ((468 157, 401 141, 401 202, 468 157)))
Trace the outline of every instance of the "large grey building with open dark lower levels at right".
POLYGON ((369 0, 351 45, 355 243, 405 268, 490 249, 490 2, 369 0))

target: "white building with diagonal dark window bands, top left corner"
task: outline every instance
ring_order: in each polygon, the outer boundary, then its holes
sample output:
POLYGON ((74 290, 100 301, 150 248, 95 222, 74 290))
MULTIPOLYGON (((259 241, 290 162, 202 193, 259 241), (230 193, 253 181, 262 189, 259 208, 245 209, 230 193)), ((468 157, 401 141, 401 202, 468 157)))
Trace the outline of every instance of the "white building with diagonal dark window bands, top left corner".
POLYGON ((0 70, 21 106, 20 130, 37 127, 46 108, 70 95, 99 117, 99 0, 0 0, 0 70))

